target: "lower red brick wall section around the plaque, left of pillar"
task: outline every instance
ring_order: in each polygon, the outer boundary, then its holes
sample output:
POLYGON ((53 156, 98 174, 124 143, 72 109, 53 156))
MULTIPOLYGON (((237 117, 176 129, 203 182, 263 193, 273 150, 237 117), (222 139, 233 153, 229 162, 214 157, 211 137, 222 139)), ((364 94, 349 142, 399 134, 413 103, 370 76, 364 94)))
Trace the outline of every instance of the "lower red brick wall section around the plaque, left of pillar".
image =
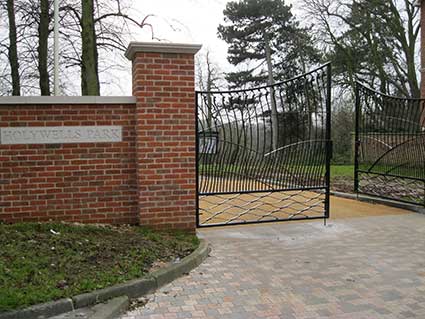
POLYGON ((0 221, 137 223, 135 105, 0 105, 0 127, 122 125, 118 143, 0 145, 0 221))

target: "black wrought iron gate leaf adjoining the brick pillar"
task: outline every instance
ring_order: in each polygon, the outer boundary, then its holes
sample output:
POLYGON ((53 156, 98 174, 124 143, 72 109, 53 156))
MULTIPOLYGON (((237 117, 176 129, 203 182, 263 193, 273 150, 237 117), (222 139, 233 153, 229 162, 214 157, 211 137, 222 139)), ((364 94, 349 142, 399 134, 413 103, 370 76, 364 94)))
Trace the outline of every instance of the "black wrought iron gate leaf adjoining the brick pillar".
POLYGON ((330 64, 196 103, 198 227, 329 217, 330 64))

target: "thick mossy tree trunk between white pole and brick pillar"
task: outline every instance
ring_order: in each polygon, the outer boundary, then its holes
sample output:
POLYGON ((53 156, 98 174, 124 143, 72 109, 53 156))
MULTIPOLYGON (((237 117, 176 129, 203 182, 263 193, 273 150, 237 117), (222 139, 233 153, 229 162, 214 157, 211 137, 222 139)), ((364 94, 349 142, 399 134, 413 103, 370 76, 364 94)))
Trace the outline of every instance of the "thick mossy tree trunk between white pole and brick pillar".
POLYGON ((94 0, 82 0, 81 38, 83 51, 81 93, 82 95, 100 95, 94 0))

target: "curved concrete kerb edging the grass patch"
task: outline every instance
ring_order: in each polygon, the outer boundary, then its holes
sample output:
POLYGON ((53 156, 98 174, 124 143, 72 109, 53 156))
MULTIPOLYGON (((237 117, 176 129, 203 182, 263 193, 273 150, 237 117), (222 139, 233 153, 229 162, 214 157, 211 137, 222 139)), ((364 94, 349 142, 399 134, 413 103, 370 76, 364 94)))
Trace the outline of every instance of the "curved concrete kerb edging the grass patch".
POLYGON ((199 247, 192 254, 183 258, 179 263, 174 263, 163 269, 150 273, 145 278, 134 279, 112 287, 77 295, 72 298, 60 299, 57 301, 34 305, 26 309, 2 313, 0 314, 0 319, 48 318, 65 312, 70 312, 78 308, 105 302, 116 297, 127 296, 130 299, 142 297, 156 291, 158 288, 172 282, 199 266, 205 258, 207 258, 210 251, 211 248, 208 243, 205 240, 200 239, 199 247))

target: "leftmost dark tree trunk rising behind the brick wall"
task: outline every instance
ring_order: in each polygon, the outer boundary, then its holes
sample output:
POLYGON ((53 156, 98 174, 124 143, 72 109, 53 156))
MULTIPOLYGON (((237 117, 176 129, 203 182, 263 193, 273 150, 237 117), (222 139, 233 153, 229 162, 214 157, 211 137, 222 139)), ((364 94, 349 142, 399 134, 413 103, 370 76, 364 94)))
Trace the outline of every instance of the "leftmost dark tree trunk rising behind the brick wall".
POLYGON ((12 95, 21 95, 19 78, 18 45, 16 37, 15 1, 7 0, 7 15, 9 18, 9 63, 12 74, 12 95))

